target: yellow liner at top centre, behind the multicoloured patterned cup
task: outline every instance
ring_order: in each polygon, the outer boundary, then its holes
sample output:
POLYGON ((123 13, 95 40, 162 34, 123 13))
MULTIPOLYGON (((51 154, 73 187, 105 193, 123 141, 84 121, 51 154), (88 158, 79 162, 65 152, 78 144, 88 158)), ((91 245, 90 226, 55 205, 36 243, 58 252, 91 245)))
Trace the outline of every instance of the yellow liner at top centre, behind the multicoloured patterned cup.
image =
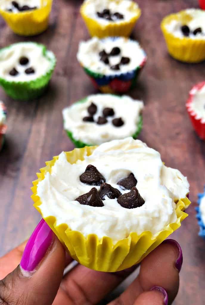
MULTIPOLYGON (((112 0, 110 0, 112 1, 112 0)), ((136 3, 132 2, 132 12, 135 12, 135 16, 128 21, 120 21, 118 23, 108 23, 106 25, 99 23, 97 20, 88 17, 85 13, 87 2, 81 5, 81 16, 83 17, 85 24, 91 37, 96 36, 99 38, 104 38, 107 36, 124 36, 128 37, 133 30, 136 21, 141 16, 141 9, 139 9, 136 3)))

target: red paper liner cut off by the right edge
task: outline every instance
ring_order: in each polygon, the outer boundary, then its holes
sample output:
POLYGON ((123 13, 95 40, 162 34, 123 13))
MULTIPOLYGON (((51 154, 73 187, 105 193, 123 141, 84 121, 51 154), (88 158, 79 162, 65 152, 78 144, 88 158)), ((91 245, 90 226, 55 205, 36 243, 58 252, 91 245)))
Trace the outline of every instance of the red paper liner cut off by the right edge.
POLYGON ((205 85, 205 81, 200 82, 199 84, 196 84, 193 86, 193 88, 189 91, 189 98, 186 102, 186 109, 189 113, 190 120, 192 122, 192 125, 200 137, 200 139, 205 140, 205 122, 203 122, 202 119, 197 118, 197 114, 195 111, 191 108, 191 104, 193 101, 193 96, 196 94, 198 90, 200 90, 205 85))

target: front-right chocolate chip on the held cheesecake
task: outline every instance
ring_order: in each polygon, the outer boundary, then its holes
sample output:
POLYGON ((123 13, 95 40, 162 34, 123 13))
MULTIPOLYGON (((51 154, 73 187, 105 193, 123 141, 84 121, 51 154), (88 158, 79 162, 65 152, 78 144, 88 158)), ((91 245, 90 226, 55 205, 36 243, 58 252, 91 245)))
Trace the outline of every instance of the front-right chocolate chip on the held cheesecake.
POLYGON ((117 202, 126 209, 138 208, 145 203, 137 188, 132 188, 130 192, 118 197, 117 202))

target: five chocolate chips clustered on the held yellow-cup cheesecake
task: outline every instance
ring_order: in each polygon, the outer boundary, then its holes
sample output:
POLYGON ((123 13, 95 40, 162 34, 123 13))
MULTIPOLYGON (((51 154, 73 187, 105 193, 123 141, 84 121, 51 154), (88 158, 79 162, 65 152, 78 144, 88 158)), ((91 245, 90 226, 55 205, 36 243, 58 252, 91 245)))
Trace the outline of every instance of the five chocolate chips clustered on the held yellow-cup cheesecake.
POLYGON ((122 189, 130 190, 130 192, 123 195, 117 188, 113 188, 112 185, 106 183, 105 177, 91 164, 88 165, 85 172, 81 174, 80 181, 88 185, 100 186, 99 192, 97 188, 93 187, 88 193, 77 197, 75 200, 80 204, 98 207, 104 206, 103 200, 105 200, 106 196, 109 199, 117 198, 117 202, 120 206, 126 209, 134 209, 145 203, 136 188, 137 180, 132 173, 129 174, 128 177, 117 182, 117 185, 120 185, 122 189))

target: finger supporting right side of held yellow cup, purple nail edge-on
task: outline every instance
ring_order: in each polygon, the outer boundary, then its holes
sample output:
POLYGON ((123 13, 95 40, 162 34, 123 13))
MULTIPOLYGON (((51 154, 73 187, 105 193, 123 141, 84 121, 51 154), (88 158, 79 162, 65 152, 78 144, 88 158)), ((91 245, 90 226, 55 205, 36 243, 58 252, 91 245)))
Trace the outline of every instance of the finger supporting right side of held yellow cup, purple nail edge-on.
POLYGON ((141 263, 140 273, 135 281, 117 300, 110 304, 132 305, 137 297, 153 286, 163 287, 171 303, 179 288, 179 271, 182 266, 182 249, 173 239, 165 240, 141 263))

